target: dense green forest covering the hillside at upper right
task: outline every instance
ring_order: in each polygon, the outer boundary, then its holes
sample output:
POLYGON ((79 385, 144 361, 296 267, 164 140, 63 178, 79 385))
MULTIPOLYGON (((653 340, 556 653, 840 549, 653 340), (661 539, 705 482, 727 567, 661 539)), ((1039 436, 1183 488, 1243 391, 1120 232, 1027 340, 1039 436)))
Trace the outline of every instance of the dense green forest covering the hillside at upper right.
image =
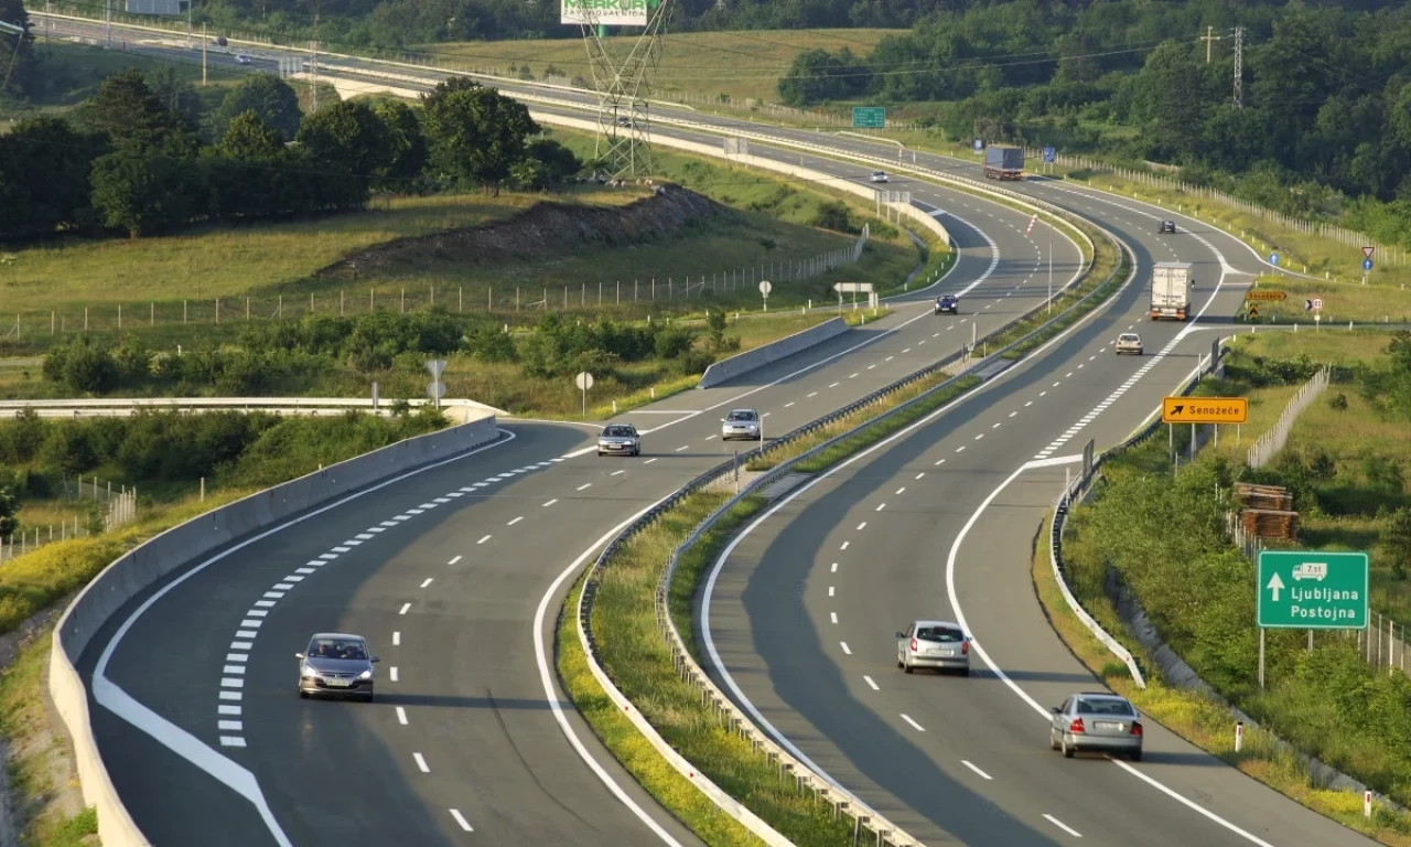
POLYGON ((779 93, 794 106, 916 103, 903 113, 951 138, 1174 164, 1189 181, 1290 215, 1345 213, 1408 244, 1407 44, 1411 6, 1383 0, 958 3, 865 55, 799 54, 779 93))

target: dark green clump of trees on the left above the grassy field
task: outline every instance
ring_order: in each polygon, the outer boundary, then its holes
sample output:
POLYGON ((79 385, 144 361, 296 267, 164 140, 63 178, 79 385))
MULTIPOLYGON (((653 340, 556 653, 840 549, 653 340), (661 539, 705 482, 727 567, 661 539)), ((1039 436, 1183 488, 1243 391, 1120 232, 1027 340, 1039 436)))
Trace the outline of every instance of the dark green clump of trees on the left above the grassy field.
POLYGON ((332 213, 374 191, 539 189, 581 169, 539 133, 523 104, 464 78, 415 106, 347 100, 303 114, 288 83, 255 73, 202 121, 128 69, 73 120, 34 117, 0 136, 0 240, 332 213))

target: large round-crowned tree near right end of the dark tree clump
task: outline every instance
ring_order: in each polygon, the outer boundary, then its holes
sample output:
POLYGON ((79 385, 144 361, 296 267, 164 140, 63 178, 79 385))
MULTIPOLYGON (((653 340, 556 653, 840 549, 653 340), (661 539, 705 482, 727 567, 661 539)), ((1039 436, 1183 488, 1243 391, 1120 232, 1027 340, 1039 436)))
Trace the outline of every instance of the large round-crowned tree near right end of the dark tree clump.
POLYGON ((436 168, 495 195, 509 169, 525 158, 529 136, 539 133, 523 103, 464 76, 437 83, 422 95, 422 103, 436 168))

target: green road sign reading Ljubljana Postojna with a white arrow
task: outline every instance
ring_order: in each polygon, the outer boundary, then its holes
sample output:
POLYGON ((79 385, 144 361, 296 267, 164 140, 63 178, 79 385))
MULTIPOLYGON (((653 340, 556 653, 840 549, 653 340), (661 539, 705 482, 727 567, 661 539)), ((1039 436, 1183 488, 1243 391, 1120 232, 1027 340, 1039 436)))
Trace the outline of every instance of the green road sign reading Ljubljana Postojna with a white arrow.
POLYGON ((1363 630, 1367 553, 1260 551, 1259 625, 1284 630, 1363 630))

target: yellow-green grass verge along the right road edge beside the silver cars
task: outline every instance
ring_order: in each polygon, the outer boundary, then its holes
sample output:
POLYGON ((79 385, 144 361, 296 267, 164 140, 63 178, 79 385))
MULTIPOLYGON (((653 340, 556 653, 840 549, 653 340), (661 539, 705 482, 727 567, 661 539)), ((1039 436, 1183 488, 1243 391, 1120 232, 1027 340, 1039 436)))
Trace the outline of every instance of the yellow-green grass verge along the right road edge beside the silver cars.
POLYGON ((1364 833, 1393 847, 1411 846, 1411 816, 1376 805, 1369 822, 1362 813, 1362 798, 1353 792, 1328 791, 1311 786, 1308 767, 1297 757, 1281 751, 1274 735, 1263 727, 1246 727, 1240 751, 1235 752, 1230 727, 1235 716, 1225 703, 1198 692, 1168 686, 1156 663, 1126 632, 1118 613, 1106 596, 1084 596, 1082 606, 1102 627, 1137 655, 1144 668, 1146 689, 1132 682, 1126 666, 1094 637, 1078 615, 1068 608, 1048 563, 1050 512, 1038 532, 1033 559, 1034 591, 1058 637, 1074 656, 1119 695, 1130 699, 1143 714, 1195 744, 1205 752, 1243 774, 1259 779, 1298 803, 1332 817, 1343 826, 1364 833))

